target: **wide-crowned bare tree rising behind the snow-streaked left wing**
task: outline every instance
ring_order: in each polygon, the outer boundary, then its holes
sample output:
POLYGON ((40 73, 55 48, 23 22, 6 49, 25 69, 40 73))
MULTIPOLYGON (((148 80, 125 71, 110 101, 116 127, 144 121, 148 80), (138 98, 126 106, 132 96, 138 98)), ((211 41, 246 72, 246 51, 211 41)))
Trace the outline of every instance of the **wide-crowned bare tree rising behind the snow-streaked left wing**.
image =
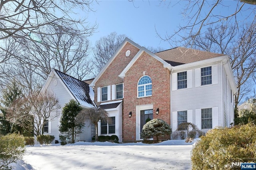
POLYGON ((89 42, 74 31, 72 34, 50 26, 49 36, 41 43, 24 41, 22 57, 17 60, 25 67, 36 68, 34 73, 46 79, 52 68, 83 79, 88 76, 89 42))

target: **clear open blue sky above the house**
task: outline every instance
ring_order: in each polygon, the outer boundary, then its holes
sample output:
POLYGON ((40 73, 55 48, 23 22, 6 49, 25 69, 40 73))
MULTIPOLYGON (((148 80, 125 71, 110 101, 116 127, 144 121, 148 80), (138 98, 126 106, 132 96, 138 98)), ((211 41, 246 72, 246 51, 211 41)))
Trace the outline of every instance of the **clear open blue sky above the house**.
MULTIPOLYGON (((89 38, 91 45, 101 37, 117 32, 126 34, 128 38, 144 47, 176 47, 176 44, 161 40, 156 31, 164 37, 177 31, 180 24, 184 25, 187 18, 182 16, 181 12, 186 3, 187 1, 179 0, 135 0, 134 3, 128 0, 102 0, 92 6, 95 12, 90 12, 87 19, 89 23, 98 24, 96 33, 89 38)), ((212 1, 207 3, 212 4, 212 1)), ((223 3, 226 6, 217 8, 214 14, 232 13, 237 1, 225 0, 223 3)), ((210 10, 210 7, 205 9, 210 10)))

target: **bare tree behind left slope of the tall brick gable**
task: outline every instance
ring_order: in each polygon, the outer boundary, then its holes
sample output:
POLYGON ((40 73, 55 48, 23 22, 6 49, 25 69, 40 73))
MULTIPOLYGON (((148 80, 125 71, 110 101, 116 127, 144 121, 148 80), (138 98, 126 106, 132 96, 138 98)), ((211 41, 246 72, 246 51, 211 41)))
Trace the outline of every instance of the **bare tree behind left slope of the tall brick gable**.
POLYGON ((93 48, 94 59, 92 61, 96 67, 94 75, 100 72, 125 38, 126 35, 124 34, 118 35, 116 32, 112 32, 96 41, 93 48))

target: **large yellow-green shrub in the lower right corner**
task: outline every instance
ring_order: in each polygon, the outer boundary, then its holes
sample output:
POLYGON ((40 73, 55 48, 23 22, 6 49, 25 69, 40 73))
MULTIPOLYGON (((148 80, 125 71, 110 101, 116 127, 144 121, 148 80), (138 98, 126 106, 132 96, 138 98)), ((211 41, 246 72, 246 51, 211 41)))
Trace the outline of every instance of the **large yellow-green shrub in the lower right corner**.
POLYGON ((232 162, 254 162, 255 134, 252 123, 209 130, 192 148, 192 169, 232 169, 232 162))

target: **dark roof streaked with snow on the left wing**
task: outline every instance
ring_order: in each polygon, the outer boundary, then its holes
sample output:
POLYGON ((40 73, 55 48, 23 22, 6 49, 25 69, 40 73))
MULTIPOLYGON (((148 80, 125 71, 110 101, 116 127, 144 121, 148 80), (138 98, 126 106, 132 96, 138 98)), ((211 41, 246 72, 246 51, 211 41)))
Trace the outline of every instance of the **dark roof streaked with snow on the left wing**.
POLYGON ((94 91, 89 84, 54 69, 76 100, 84 107, 92 107, 94 91))

